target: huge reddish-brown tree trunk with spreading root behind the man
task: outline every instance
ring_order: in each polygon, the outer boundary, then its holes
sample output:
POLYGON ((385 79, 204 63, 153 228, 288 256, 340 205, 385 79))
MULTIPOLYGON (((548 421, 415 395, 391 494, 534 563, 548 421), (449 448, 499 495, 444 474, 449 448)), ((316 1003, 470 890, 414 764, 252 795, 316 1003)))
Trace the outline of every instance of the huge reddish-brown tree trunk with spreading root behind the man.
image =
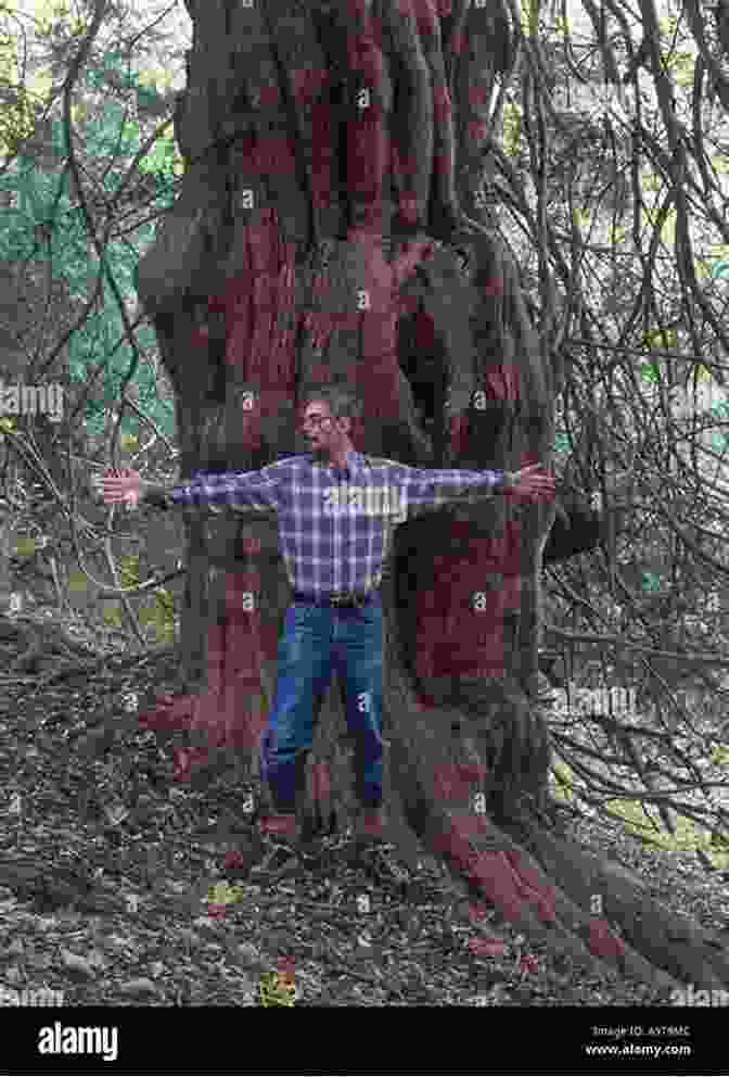
MULTIPOLYGON (((501 0, 188 7, 187 172, 138 275, 176 389, 182 476, 304 452, 297 402, 336 380, 363 398, 361 452, 433 468, 548 463, 553 371, 515 267, 462 208, 477 205, 495 75, 513 55, 501 0), (394 263, 408 237, 438 241, 392 308, 357 300, 372 287, 362 226, 394 263)), ((553 507, 483 499, 397 530, 382 586, 391 836, 588 966, 729 984, 725 953, 546 822, 536 688, 553 519, 553 507), (604 918, 590 913, 596 892, 604 918)), ((187 534, 186 695, 159 713, 204 733, 203 755, 217 740, 254 760, 291 598, 276 521, 190 514, 187 534)), ((300 771, 310 829, 353 821, 350 749, 334 683, 300 771)))

